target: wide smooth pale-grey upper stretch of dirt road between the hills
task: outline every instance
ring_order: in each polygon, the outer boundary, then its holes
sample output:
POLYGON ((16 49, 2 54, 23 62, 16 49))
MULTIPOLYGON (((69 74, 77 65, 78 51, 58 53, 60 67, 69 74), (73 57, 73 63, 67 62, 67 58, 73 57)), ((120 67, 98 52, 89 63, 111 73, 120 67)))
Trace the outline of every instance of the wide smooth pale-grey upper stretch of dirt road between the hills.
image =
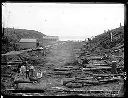
POLYGON ((53 64, 55 67, 63 66, 68 62, 72 62, 75 57, 73 47, 69 43, 58 43, 49 47, 50 54, 46 56, 47 64, 53 64))

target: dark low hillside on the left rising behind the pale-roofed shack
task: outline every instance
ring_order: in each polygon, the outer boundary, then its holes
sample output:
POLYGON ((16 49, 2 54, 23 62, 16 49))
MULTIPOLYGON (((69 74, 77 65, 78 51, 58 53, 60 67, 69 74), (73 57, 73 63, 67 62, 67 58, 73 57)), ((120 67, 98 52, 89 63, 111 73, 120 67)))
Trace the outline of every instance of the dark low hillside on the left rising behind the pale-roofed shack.
POLYGON ((3 28, 2 53, 18 50, 17 43, 21 38, 37 38, 40 42, 43 42, 43 36, 46 35, 34 30, 3 28))

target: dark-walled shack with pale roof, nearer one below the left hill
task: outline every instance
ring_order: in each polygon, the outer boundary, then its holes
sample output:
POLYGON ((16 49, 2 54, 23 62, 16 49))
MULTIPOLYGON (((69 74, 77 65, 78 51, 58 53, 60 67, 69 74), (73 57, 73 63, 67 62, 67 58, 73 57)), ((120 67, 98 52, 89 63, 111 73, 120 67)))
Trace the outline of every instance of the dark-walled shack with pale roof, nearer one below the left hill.
POLYGON ((39 42, 37 39, 22 38, 19 41, 20 50, 22 49, 34 49, 38 47, 39 42))

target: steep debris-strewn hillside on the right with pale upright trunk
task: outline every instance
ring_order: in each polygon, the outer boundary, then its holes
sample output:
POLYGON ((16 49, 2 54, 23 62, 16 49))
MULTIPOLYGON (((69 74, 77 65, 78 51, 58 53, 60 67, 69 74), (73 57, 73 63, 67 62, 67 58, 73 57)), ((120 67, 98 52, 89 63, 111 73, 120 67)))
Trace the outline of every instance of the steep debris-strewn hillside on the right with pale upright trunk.
POLYGON ((91 53, 102 54, 104 52, 109 53, 114 47, 118 47, 123 44, 124 26, 121 26, 95 36, 95 38, 85 43, 84 49, 91 53), (110 34, 112 34, 112 41, 110 34))

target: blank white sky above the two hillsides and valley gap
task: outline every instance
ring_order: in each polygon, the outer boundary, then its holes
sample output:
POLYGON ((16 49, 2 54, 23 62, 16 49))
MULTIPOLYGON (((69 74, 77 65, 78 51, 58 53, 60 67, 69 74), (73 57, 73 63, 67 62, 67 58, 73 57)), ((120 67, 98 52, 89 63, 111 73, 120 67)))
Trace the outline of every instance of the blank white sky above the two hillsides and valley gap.
POLYGON ((3 3, 2 25, 62 41, 85 40, 124 25, 124 4, 3 3))

